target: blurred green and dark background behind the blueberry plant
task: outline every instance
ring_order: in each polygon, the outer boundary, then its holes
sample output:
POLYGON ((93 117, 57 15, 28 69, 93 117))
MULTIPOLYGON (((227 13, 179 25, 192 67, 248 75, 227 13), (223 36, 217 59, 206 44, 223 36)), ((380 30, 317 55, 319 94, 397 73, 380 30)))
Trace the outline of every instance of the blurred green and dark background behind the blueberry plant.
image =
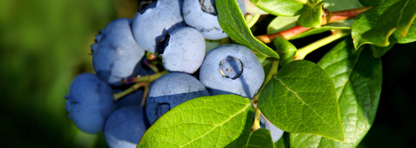
MULTIPOLYGON (((93 72, 88 53, 94 35, 115 18, 134 17, 138 3, 0 0, 2 147, 107 147, 102 133, 82 133, 66 118, 63 96, 72 78, 93 72)), ((415 47, 396 45, 382 57, 379 112, 359 147, 411 146, 416 131, 415 47)))

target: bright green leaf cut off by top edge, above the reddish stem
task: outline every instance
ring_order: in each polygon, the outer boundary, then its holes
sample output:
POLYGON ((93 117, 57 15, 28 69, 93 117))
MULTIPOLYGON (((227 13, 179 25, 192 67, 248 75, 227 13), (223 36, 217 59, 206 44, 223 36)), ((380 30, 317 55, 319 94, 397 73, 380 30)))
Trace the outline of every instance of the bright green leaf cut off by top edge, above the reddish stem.
POLYGON ((302 0, 250 0, 256 7, 278 16, 295 16, 310 9, 302 0))

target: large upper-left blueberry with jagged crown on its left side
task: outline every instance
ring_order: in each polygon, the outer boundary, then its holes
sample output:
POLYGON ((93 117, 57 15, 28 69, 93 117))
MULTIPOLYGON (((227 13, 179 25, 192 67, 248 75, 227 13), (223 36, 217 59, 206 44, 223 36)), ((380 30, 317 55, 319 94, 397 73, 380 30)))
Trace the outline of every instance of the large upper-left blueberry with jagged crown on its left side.
POLYGON ((131 23, 130 18, 114 19, 96 36, 97 43, 91 45, 97 76, 113 86, 122 85, 123 78, 136 76, 141 67, 144 49, 134 40, 131 23))

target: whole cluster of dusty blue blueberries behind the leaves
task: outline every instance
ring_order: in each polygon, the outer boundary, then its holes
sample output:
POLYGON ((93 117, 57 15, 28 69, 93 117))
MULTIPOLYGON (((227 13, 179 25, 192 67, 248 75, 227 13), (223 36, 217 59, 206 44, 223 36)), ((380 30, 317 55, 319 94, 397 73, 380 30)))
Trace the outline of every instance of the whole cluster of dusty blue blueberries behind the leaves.
MULTIPOLYGON (((243 0, 237 2, 244 14, 243 0)), ((206 54, 206 42, 227 36, 215 0, 157 0, 134 19, 113 20, 91 45, 96 74, 82 73, 71 82, 65 96, 68 118, 83 132, 104 131, 111 148, 134 148, 146 129, 178 104, 221 94, 252 98, 265 77, 253 51, 223 44, 206 54), (150 85, 145 108, 139 105, 143 90, 114 102, 113 94, 127 87, 122 80, 154 73, 143 64, 146 51, 158 53, 169 73, 150 85)), ((261 126, 275 141, 282 136, 264 117, 261 126)))

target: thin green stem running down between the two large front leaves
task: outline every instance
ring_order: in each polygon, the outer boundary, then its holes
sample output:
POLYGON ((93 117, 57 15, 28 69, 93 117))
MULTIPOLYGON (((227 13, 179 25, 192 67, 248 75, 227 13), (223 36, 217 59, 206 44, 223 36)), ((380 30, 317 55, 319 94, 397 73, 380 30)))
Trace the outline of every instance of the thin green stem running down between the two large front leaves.
POLYGON ((254 105, 256 107, 253 126, 251 126, 251 131, 252 132, 260 128, 261 112, 260 112, 260 109, 257 106, 258 98, 260 96, 260 93, 263 91, 264 87, 266 86, 266 84, 276 75, 278 66, 279 66, 279 59, 272 58, 272 65, 270 66, 269 73, 267 73, 267 76, 266 76, 263 84, 261 85, 259 91, 257 92, 257 94, 252 99, 253 102, 254 102, 254 105))

